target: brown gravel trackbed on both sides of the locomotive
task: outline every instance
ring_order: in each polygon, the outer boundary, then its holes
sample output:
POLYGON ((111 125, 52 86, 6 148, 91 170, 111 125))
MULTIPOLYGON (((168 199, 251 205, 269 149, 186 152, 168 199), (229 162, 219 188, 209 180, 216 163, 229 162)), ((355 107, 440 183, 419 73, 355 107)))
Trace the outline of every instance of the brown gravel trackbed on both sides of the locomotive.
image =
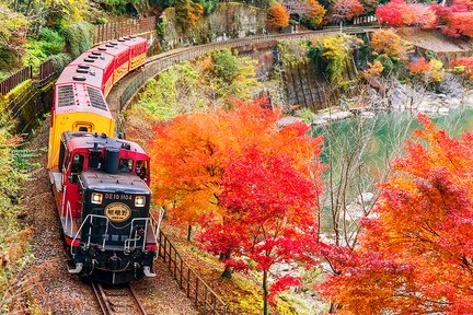
MULTIPOLYGON (((48 120, 36 130, 30 149, 47 148, 48 120)), ((46 171, 47 153, 37 158, 42 168, 34 179, 26 183, 23 202, 26 206, 26 222, 33 226, 32 272, 39 276, 38 291, 45 292, 43 303, 47 303, 53 314, 100 314, 90 284, 79 277, 69 275, 69 259, 60 240, 56 206, 49 188, 46 171)), ((149 314, 178 315, 197 314, 191 301, 177 288, 177 283, 160 260, 155 261, 157 278, 135 281, 134 285, 149 314)))

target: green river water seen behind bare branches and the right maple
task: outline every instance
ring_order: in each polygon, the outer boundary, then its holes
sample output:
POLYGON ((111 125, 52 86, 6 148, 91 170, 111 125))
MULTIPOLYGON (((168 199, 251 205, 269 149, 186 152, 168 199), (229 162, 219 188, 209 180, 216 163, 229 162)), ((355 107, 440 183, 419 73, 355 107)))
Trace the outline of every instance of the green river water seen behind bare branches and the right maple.
MULTIPOLYGON (((431 119, 454 138, 473 131, 472 107, 452 109, 431 119)), ((409 112, 380 112, 372 118, 355 116, 313 128, 314 137, 324 137, 321 160, 328 166, 323 175, 322 213, 330 214, 336 207, 343 209, 362 192, 376 194, 376 184, 384 182, 389 174, 390 161, 403 154, 405 140, 419 128, 417 114, 409 112)), ((331 215, 322 215, 322 225, 331 229, 331 215)))

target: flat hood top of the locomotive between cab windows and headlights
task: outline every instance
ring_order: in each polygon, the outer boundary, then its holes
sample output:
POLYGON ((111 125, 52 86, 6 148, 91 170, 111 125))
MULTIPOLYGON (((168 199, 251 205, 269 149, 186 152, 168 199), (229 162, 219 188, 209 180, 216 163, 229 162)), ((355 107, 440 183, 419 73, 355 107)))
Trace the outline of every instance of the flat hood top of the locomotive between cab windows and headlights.
POLYGON ((84 187, 104 192, 126 192, 151 195, 147 184, 132 174, 106 174, 99 171, 85 171, 81 174, 84 187))

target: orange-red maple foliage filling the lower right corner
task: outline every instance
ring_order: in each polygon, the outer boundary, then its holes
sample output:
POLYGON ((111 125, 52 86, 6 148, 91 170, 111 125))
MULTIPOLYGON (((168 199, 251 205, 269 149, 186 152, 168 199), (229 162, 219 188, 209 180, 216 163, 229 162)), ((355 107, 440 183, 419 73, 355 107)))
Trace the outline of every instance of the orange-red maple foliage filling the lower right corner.
POLYGON ((337 275, 321 289, 339 314, 473 312, 473 133, 455 140, 419 120, 359 248, 324 248, 337 275))

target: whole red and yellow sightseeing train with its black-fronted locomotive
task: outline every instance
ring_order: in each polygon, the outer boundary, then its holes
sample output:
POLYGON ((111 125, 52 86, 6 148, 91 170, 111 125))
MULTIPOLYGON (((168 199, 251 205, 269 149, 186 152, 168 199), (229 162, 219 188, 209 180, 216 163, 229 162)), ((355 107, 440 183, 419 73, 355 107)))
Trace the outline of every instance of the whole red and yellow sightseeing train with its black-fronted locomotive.
POLYGON ((69 272, 104 283, 153 277, 157 222, 150 215, 150 158, 115 138, 105 96, 146 62, 147 40, 124 37, 89 49, 56 82, 48 170, 69 272))

